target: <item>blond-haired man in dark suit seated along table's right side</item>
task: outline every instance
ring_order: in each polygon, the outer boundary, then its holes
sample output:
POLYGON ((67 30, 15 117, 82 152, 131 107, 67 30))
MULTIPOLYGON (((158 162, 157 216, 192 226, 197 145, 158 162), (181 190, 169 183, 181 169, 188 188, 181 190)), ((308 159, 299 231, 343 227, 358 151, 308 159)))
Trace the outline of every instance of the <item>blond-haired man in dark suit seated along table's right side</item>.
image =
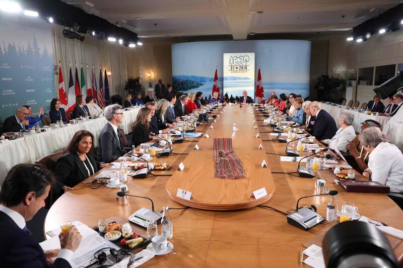
POLYGON ((337 132, 336 122, 334 122, 331 115, 322 110, 319 102, 312 102, 309 105, 309 110, 316 117, 313 124, 312 136, 315 136, 317 140, 331 139, 337 132))

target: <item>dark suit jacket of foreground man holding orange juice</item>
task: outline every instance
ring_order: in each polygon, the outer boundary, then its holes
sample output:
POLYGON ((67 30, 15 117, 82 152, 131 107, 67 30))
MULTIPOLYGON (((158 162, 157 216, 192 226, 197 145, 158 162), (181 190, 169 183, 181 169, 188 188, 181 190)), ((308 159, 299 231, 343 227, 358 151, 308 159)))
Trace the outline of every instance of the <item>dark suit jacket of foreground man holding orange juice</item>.
POLYGON ((20 229, 7 214, 0 211, 0 266, 4 268, 60 267, 71 268, 70 263, 56 258, 46 263, 45 253, 35 238, 20 229))

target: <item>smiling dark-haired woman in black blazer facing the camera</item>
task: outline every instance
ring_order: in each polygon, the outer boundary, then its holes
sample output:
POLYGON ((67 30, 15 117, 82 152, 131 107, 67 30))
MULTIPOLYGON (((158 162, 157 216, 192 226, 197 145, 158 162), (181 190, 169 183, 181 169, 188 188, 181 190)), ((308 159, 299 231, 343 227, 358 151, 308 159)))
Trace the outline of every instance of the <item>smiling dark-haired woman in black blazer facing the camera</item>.
MULTIPOLYGON (((101 164, 92 154, 94 136, 87 130, 79 130, 65 148, 64 154, 57 159, 55 168, 56 192, 64 193, 110 164, 101 164)), ((60 194, 59 194, 60 195, 60 194)))

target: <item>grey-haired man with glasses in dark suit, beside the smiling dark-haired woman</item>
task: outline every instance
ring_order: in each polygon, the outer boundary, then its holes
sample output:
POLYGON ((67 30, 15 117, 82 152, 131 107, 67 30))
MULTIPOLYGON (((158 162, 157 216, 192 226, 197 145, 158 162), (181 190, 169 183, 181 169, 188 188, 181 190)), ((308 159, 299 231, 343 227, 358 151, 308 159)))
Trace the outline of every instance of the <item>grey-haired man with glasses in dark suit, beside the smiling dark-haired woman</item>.
POLYGON ((112 104, 105 108, 104 114, 108 123, 99 133, 97 156, 99 162, 110 163, 126 153, 117 129, 123 121, 123 113, 120 105, 112 104))

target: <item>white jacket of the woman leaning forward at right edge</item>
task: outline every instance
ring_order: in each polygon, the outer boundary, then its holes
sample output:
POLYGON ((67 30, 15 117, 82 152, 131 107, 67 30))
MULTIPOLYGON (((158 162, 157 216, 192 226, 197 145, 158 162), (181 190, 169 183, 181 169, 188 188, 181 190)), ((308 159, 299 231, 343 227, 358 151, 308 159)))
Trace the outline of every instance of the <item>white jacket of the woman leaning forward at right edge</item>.
POLYGON ((368 168, 371 180, 390 187, 390 192, 403 193, 403 154, 394 144, 381 142, 370 153, 368 168))

